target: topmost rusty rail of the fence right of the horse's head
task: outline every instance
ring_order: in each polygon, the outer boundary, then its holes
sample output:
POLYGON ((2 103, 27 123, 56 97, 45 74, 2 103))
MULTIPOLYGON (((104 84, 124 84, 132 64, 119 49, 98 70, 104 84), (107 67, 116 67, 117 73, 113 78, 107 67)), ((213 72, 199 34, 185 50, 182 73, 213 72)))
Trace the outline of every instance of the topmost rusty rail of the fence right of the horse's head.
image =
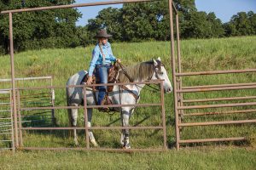
POLYGON ((256 72, 256 69, 230 70, 230 71, 184 72, 184 73, 176 73, 175 76, 177 76, 177 77, 187 77, 187 76, 215 75, 215 74, 227 74, 227 73, 246 73, 246 72, 256 72))

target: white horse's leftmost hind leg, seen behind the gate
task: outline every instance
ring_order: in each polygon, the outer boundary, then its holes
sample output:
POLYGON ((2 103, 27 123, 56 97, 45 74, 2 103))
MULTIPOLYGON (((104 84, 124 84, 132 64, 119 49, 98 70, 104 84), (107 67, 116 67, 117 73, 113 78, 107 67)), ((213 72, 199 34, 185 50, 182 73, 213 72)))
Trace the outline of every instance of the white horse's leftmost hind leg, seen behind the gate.
MULTIPOLYGON (((72 106, 78 106, 77 104, 73 104, 72 106)), ((68 118, 69 122, 71 123, 72 127, 77 126, 77 120, 78 120, 78 109, 68 109, 68 118)), ((73 129, 73 140, 76 145, 79 145, 78 139, 77 139, 77 129, 73 129)))

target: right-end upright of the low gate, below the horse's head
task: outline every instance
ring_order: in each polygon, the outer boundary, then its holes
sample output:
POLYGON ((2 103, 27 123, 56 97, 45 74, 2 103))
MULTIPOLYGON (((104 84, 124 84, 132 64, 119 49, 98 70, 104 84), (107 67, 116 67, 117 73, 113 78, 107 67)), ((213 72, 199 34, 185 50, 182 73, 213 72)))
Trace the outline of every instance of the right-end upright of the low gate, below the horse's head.
POLYGON ((161 88, 161 116, 163 123, 163 133, 164 133, 164 150, 167 150, 167 139, 166 139, 166 110, 165 110, 165 95, 164 95, 164 87, 163 81, 160 82, 161 88))

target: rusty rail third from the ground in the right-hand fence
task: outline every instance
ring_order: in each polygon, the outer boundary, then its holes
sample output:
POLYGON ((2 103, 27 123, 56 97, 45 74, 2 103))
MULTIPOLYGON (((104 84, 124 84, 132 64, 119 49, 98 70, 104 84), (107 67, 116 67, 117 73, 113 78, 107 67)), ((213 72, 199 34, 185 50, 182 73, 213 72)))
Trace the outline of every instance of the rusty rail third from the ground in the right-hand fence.
POLYGON ((220 105, 189 105, 189 106, 178 106, 177 110, 187 110, 187 109, 207 109, 207 108, 217 108, 217 107, 235 107, 235 106, 249 106, 256 105, 256 102, 252 103, 236 103, 236 104, 220 104, 220 105))

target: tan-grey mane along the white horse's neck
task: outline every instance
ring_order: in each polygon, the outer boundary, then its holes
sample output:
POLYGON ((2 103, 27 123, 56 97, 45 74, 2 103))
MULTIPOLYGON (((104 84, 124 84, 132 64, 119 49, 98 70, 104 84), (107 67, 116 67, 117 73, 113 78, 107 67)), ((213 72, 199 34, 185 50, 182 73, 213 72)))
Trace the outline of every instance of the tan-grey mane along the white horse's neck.
MULTIPOLYGON (((141 82, 144 79, 150 78, 154 73, 153 61, 146 61, 138 63, 137 65, 131 65, 125 67, 125 71, 131 77, 132 80, 137 80, 141 82)), ((119 71, 119 81, 120 82, 130 82, 125 76, 123 71, 119 71)))

